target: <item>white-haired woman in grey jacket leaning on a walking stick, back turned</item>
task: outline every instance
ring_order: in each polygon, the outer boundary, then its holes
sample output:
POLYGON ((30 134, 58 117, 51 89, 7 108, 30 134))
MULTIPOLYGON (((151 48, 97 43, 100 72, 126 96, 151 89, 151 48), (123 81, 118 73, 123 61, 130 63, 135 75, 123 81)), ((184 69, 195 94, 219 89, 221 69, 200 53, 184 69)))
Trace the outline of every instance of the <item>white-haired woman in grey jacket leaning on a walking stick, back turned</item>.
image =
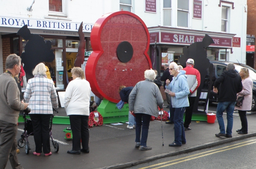
POLYGON ((156 73, 150 69, 144 72, 144 76, 145 80, 138 82, 129 95, 129 112, 135 114, 135 147, 141 145, 141 150, 151 150, 152 148, 147 146, 150 118, 159 115, 157 105, 162 109, 164 101, 154 83, 156 73))

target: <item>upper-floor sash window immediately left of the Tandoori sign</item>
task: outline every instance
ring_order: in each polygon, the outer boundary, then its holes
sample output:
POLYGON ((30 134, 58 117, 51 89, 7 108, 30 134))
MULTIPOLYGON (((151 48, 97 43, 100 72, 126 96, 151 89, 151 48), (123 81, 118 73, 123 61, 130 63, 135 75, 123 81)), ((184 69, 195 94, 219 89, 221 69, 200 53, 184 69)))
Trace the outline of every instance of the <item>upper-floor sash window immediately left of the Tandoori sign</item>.
POLYGON ((189 0, 178 0, 177 26, 188 28, 189 0))

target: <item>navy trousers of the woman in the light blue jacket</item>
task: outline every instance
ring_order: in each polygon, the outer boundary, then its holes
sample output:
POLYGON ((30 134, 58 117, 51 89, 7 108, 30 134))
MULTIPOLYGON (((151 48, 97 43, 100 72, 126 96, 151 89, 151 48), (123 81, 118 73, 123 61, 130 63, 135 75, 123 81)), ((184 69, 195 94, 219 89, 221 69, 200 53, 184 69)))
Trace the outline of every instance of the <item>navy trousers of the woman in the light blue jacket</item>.
POLYGON ((183 114, 186 107, 175 108, 174 112, 174 143, 181 145, 186 142, 184 126, 183 126, 183 114))

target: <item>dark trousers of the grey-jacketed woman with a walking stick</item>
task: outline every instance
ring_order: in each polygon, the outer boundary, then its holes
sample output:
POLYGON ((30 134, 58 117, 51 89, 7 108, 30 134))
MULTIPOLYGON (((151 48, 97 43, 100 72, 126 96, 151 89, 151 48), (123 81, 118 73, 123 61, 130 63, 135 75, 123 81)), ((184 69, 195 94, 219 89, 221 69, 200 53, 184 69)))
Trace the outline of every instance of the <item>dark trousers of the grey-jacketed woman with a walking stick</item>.
POLYGON ((151 115, 136 113, 136 139, 135 142, 140 142, 141 146, 147 147, 147 134, 149 133, 149 122, 151 115), (142 126, 142 127, 141 127, 142 126), (142 132, 141 132, 142 129, 142 132), (141 139, 140 139, 141 138, 141 139))

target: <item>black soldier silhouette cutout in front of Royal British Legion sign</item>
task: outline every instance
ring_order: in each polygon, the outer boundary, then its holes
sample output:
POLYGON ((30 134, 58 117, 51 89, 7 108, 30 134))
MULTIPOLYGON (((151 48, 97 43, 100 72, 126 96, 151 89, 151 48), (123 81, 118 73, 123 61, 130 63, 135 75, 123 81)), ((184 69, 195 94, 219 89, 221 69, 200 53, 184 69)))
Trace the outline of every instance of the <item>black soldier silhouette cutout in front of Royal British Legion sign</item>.
POLYGON ((33 78, 32 71, 36 65, 41 62, 52 62, 55 58, 51 50, 51 41, 45 42, 42 36, 30 33, 28 25, 22 26, 17 35, 23 37, 26 41, 25 52, 21 54, 21 62, 24 63, 26 80, 33 78))

